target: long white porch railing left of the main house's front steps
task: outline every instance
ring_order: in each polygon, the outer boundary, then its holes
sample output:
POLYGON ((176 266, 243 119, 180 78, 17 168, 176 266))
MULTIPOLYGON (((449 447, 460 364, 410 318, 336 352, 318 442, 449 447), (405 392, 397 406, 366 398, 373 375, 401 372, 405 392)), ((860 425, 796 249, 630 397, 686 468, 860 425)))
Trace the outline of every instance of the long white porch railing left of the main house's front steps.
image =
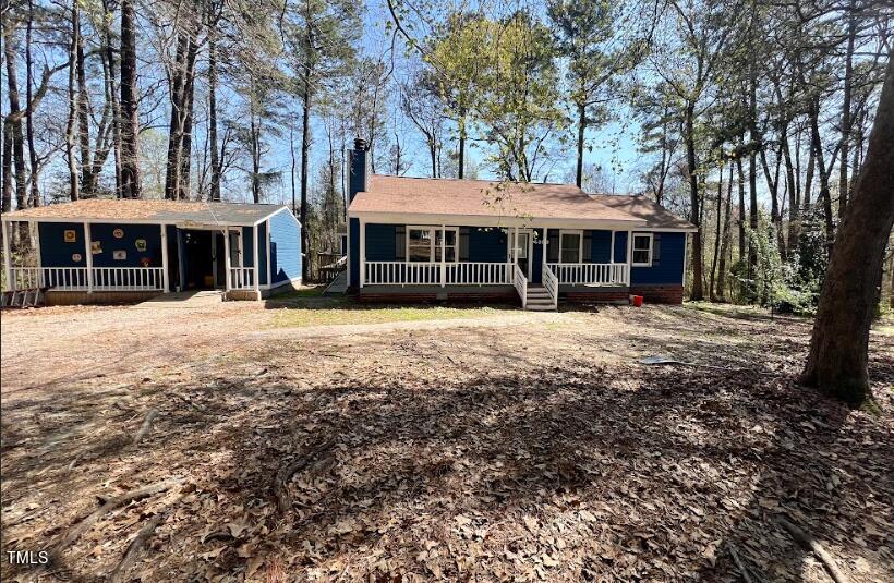
MULTIPOLYGON (((365 262, 364 286, 440 286, 440 262, 365 262)), ((510 286, 512 264, 450 262, 444 264, 447 286, 510 286)))

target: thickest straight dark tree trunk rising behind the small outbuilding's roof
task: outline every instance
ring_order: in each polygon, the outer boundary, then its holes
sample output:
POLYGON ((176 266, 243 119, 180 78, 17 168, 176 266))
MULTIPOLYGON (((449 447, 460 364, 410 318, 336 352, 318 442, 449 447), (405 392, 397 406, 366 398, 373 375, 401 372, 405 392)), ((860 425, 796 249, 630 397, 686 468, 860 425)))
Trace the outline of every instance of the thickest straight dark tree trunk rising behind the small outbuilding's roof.
POLYGON ((121 196, 140 198, 140 92, 134 0, 121 0, 121 196))

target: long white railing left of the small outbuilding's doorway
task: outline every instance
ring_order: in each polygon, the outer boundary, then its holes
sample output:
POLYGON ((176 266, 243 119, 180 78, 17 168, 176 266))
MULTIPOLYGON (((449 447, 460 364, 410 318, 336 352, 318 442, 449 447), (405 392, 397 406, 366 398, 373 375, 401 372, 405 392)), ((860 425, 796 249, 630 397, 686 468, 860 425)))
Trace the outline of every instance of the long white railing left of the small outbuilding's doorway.
MULTIPOLYGON (((161 267, 94 267, 92 275, 93 289, 97 291, 160 291, 165 288, 161 267)), ((13 267, 12 277, 16 290, 90 289, 86 267, 13 267)))

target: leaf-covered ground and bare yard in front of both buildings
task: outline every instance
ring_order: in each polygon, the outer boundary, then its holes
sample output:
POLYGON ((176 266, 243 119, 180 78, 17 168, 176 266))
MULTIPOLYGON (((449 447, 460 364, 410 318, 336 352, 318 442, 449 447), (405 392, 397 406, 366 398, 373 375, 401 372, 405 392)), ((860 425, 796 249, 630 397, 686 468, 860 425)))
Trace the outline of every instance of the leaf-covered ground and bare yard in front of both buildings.
POLYGON ((829 581, 787 517, 894 580, 886 333, 869 413, 793 380, 809 323, 752 311, 291 329, 281 305, 4 313, 3 579, 102 580, 160 519, 122 580, 741 581, 735 551, 754 581, 829 581))

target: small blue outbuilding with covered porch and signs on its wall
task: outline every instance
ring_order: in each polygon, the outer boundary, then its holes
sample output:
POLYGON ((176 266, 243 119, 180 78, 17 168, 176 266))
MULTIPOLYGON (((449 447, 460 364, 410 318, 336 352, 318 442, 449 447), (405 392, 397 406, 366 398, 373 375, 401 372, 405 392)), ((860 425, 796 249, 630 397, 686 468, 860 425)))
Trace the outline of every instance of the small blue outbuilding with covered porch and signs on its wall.
POLYGON ((286 206, 89 198, 2 223, 8 290, 41 289, 47 304, 214 289, 258 300, 301 283, 301 224, 286 206), (10 232, 23 222, 36 253, 13 265, 10 232))

